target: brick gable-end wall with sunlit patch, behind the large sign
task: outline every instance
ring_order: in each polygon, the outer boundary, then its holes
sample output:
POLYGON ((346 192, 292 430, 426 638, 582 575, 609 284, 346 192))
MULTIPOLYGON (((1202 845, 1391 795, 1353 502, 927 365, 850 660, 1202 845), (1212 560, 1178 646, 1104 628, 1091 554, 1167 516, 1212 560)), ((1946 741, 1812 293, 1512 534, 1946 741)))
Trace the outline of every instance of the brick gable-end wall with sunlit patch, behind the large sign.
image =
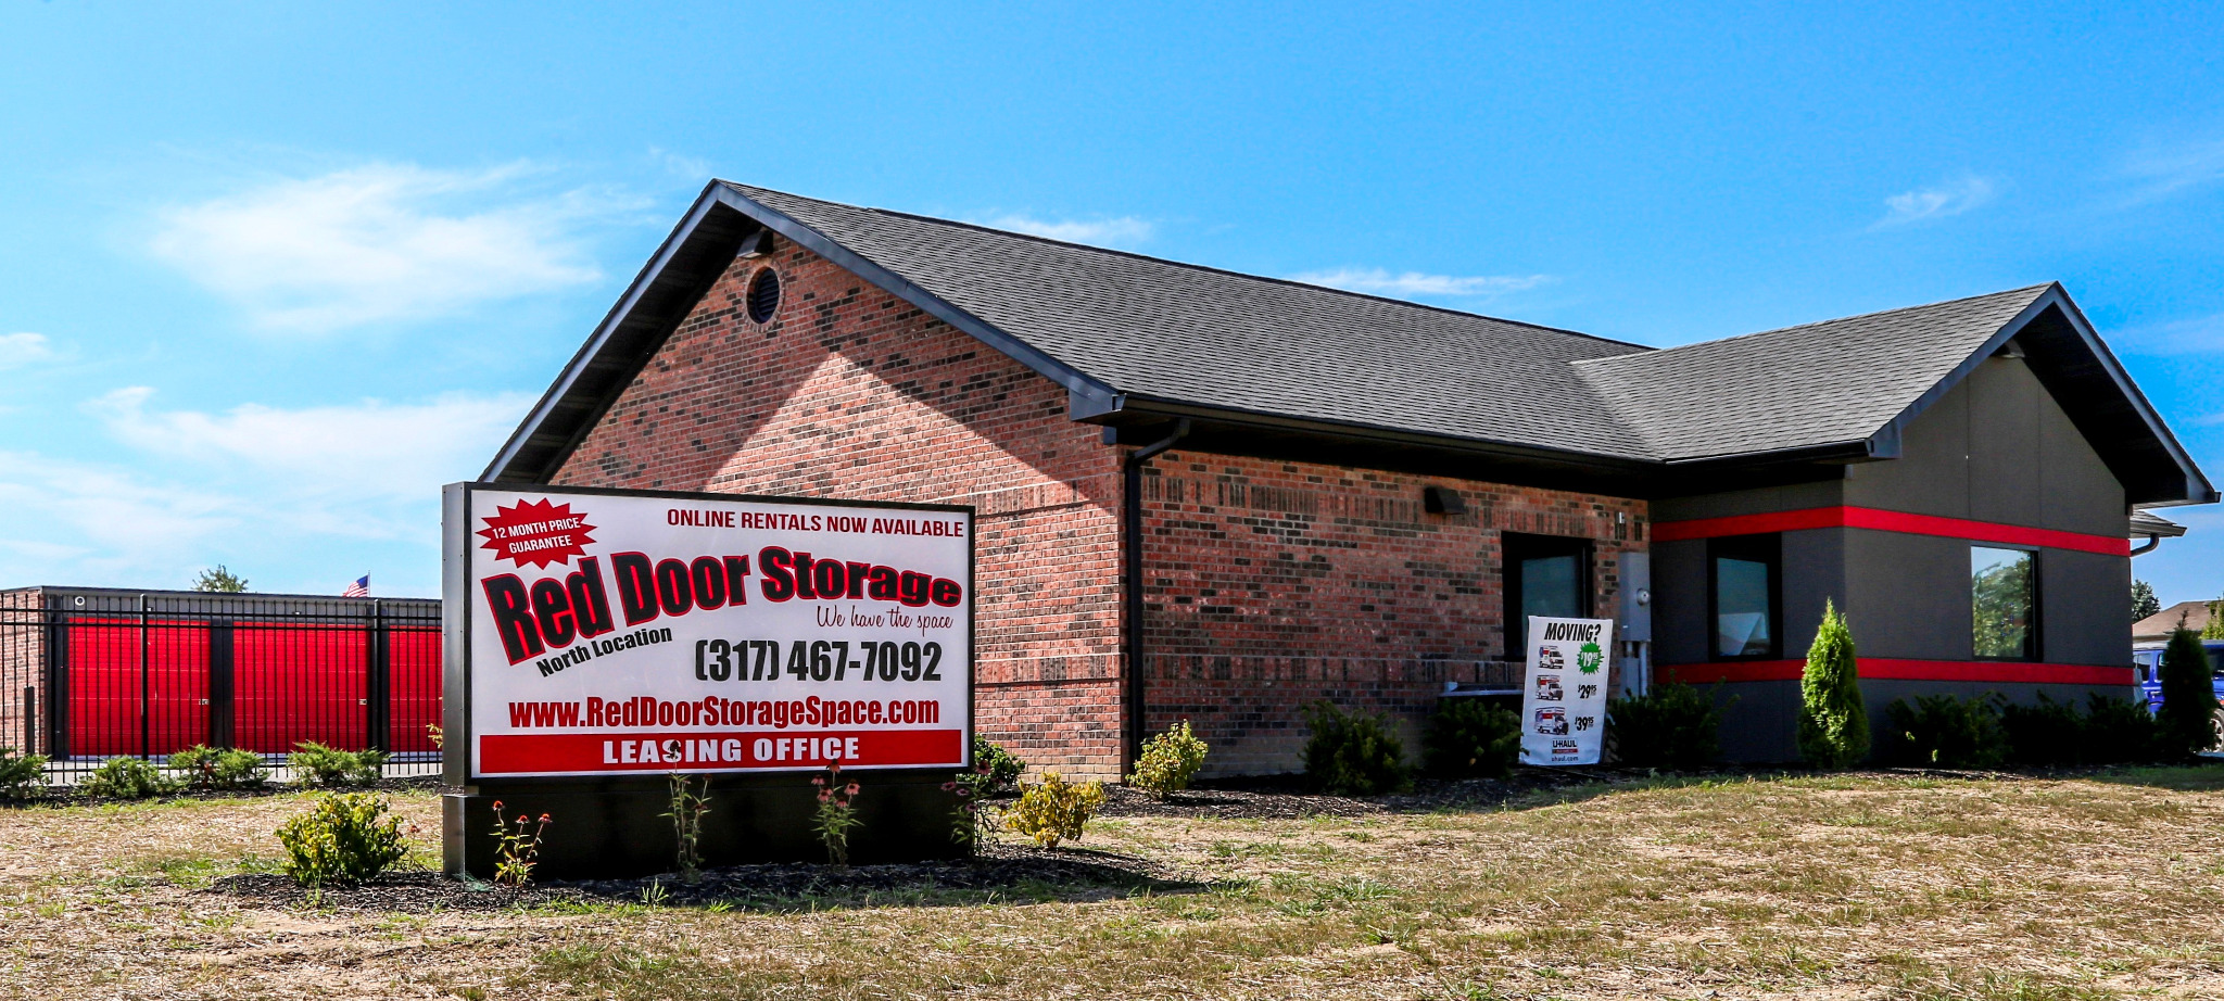
POLYGON ((1065 389, 790 242, 770 323, 736 260, 558 485, 974 505, 976 727, 1036 767, 1121 761, 1119 456, 1065 389))

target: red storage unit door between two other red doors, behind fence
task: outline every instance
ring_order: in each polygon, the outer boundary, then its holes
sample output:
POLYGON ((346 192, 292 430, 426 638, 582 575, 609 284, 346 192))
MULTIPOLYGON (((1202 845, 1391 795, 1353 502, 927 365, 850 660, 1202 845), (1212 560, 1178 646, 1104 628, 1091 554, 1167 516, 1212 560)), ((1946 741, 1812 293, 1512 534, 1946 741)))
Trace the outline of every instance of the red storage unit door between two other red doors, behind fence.
POLYGON ((285 754, 302 741, 363 750, 369 632, 360 625, 231 627, 238 745, 285 754))

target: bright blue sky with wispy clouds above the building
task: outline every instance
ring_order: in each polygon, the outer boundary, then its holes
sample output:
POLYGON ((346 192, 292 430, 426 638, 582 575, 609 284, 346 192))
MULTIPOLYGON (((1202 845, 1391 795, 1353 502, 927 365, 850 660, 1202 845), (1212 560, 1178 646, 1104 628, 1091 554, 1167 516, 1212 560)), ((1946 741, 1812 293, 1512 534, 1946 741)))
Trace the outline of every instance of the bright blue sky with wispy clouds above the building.
POLYGON ((2224 478, 2200 4, 463 7, 0 7, 0 585, 436 594, 709 176, 1650 345, 2062 280, 2224 478))

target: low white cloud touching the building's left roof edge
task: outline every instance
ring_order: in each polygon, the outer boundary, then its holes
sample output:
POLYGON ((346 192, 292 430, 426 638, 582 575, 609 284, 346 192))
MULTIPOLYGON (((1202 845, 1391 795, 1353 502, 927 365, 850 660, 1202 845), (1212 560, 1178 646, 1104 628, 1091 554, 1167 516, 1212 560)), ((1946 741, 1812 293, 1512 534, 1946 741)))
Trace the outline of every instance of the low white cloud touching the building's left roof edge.
POLYGON ((149 412, 153 389, 116 389, 89 405, 116 438, 140 452, 234 463, 291 483, 289 492, 434 498, 471 478, 534 403, 525 394, 440 396, 280 409, 242 405, 225 414, 149 412))

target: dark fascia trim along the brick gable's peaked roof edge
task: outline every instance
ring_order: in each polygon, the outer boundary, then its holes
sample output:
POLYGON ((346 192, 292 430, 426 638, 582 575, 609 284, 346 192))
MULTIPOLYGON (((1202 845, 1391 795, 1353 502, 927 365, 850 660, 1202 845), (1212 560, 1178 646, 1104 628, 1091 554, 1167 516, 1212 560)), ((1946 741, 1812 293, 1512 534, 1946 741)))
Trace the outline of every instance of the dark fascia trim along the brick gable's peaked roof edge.
MULTIPOLYGON (((1103 400, 1112 400, 1119 396, 1105 383, 1081 374, 1079 369, 1043 354, 1034 345, 1027 345, 996 329, 987 320, 981 320, 979 316, 959 309, 956 305, 943 300, 941 296, 921 289, 910 278, 903 278, 890 271, 887 267, 872 262, 870 258, 852 251, 850 247, 843 247, 830 236, 798 222, 796 218, 778 209, 772 209, 741 191, 734 191, 734 187, 729 187, 725 180, 712 180, 709 185, 703 187, 703 194, 696 196, 694 205, 672 229, 672 234, 665 236, 665 242, 656 247, 656 254, 649 256, 649 262, 643 265, 641 274, 634 276, 625 294, 618 296, 618 303, 609 307, 609 314, 603 316, 603 323, 594 327, 594 334, 587 338, 585 345, 580 345, 578 354, 572 356, 572 360, 549 385, 549 389, 540 394, 540 400, 534 405, 532 412, 527 412, 518 429, 509 434, 509 440, 503 443, 503 449, 496 452, 492 463, 487 463, 487 469, 480 474, 483 483, 496 483, 507 478, 512 463, 516 463, 518 454, 525 452, 525 447, 532 443, 534 436, 547 429, 545 425, 552 420, 558 405, 563 405, 574 392, 580 389, 580 376, 596 360, 603 360, 603 354, 612 349, 609 345, 612 338, 620 327, 625 327, 625 323, 632 318, 634 309, 643 303, 643 298, 647 298, 652 289, 658 289, 661 285, 669 285, 669 280, 676 280, 667 276, 667 267, 685 249, 698 249, 696 242, 701 240, 698 234, 703 229, 703 222, 721 207, 747 216, 761 227, 794 240, 798 247, 805 247, 812 254, 832 260, 836 267, 843 267, 856 274, 858 278, 878 285, 892 296, 974 336, 976 340, 994 347, 996 351, 1012 356, 1014 360, 1027 365, 1036 374, 1063 385, 1065 392, 1076 400, 1088 400, 1092 407, 1101 407, 1103 400)), ((692 305, 694 300, 687 300, 687 307, 692 305)), ((661 318, 663 334, 647 340, 649 347, 641 349, 643 354, 641 358, 634 360, 632 369, 638 371, 638 367, 649 360, 656 347, 663 345, 663 338, 669 336, 672 327, 676 327, 683 318, 685 309, 681 309, 676 316, 661 318)), ((567 434, 567 445, 563 447, 563 454, 569 454, 572 449, 578 447, 578 440, 587 434, 587 429, 592 429, 600 420, 600 416, 616 400, 616 394, 620 394, 627 383, 632 380, 629 378, 620 380, 616 389, 605 394, 605 398, 592 400, 594 405, 587 407, 587 418, 580 420, 580 427, 574 427, 572 434, 567 434)), ((552 463, 549 469, 554 469, 556 465, 560 465, 560 460, 552 463)))

